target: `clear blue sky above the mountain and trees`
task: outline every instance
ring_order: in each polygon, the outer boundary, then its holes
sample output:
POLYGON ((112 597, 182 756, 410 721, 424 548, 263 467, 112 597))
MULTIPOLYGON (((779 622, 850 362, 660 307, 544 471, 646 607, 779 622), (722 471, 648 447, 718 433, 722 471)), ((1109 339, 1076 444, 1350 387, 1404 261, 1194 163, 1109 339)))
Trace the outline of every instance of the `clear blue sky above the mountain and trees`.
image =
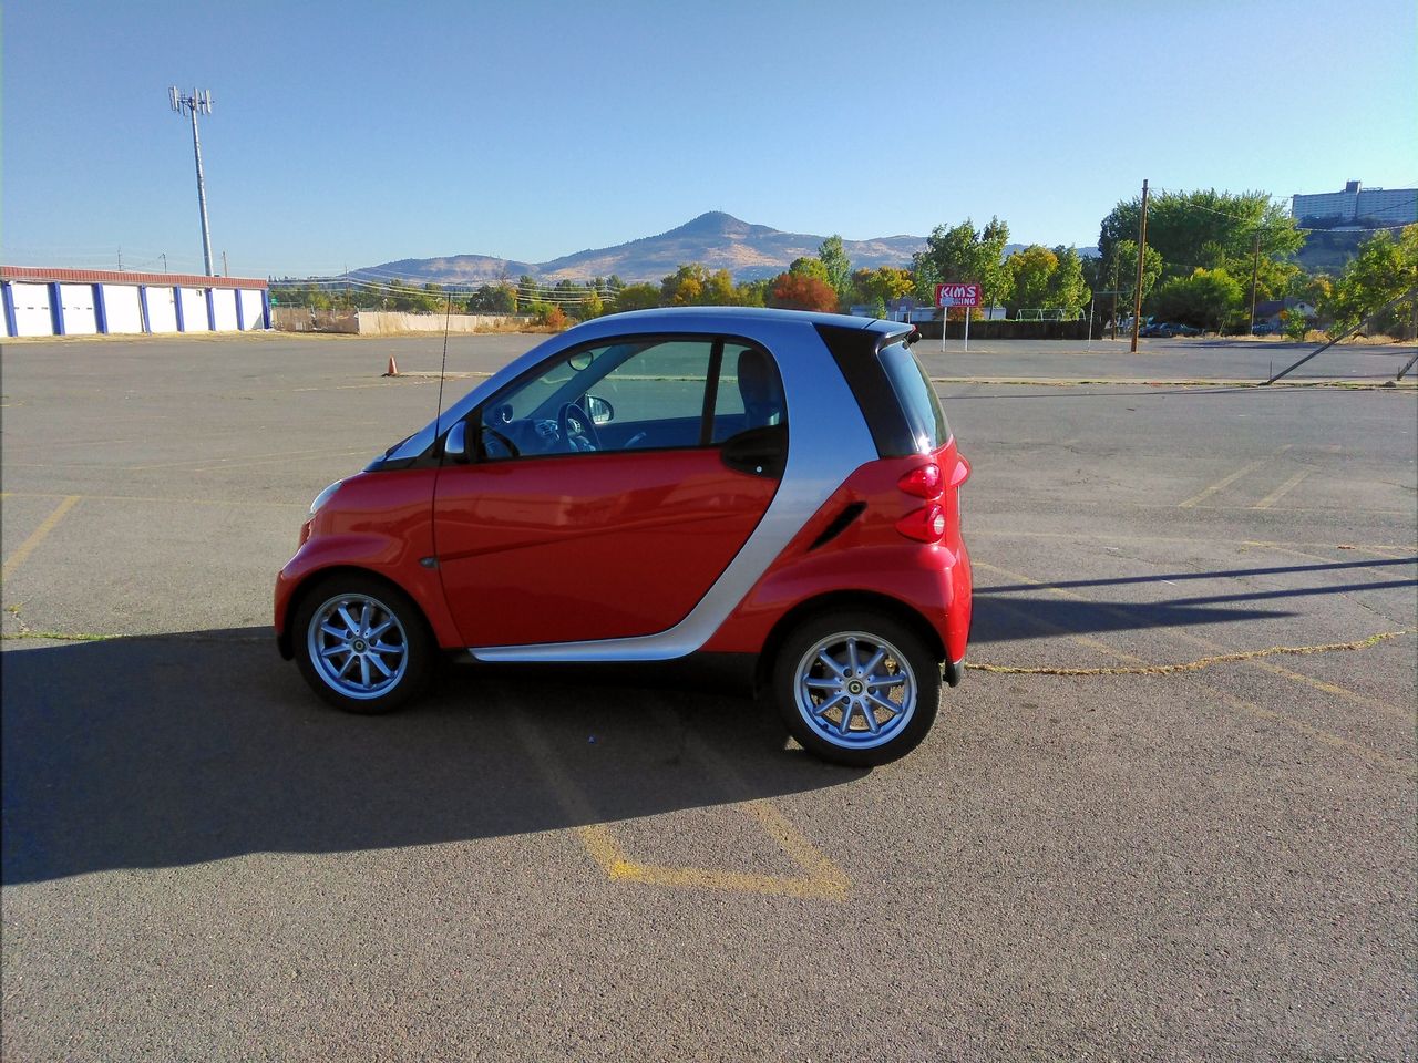
POLYGON ((233 274, 546 261, 706 210, 848 240, 998 214, 1086 245, 1143 177, 1418 186, 1414 0, 3 9, 0 258, 233 274), (220 268, 220 265, 218 265, 220 268))

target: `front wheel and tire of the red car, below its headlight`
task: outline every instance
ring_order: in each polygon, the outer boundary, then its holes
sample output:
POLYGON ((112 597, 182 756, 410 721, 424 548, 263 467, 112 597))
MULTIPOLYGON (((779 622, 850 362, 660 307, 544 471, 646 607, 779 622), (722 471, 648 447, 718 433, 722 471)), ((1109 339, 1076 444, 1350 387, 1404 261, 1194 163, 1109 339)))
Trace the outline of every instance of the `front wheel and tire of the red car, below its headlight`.
POLYGON ((423 612, 374 577, 322 580, 302 597, 291 634, 305 682, 347 713, 391 713, 417 696, 434 670, 423 612))

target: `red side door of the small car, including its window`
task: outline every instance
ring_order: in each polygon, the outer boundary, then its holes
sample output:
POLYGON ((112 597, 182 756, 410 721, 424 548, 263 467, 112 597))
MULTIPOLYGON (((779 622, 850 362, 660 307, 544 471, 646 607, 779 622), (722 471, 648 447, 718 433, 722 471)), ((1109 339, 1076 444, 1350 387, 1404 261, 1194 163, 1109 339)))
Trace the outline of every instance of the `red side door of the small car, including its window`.
POLYGON ((773 500, 784 417, 767 351, 708 336, 603 340, 513 381, 474 411, 474 459, 445 463, 435 488, 438 567, 467 643, 674 626, 773 500), (756 378, 767 364, 777 412, 760 407, 761 380, 740 380, 750 363, 756 378))

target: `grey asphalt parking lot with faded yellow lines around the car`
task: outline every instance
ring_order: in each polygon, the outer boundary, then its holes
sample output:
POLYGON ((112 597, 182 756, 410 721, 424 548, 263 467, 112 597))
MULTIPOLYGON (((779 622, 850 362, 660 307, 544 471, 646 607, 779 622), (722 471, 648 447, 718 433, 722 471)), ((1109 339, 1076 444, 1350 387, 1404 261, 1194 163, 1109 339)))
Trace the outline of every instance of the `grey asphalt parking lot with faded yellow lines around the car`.
POLYGON ((923 342, 973 669, 868 772, 702 690, 309 694, 274 575, 441 343, 7 344, 4 1059, 1414 1059, 1412 347, 923 342))

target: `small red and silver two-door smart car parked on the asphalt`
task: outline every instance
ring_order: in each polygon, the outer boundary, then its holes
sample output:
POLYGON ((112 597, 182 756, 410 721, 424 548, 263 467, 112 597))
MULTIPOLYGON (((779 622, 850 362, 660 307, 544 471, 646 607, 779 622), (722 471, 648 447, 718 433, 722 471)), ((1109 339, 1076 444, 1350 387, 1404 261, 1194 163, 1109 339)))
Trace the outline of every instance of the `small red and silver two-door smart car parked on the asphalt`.
POLYGON ((895 760, 970 629, 970 466, 916 337, 725 308, 579 325, 320 492, 281 652, 354 713, 441 653, 740 665, 807 750, 895 760))

